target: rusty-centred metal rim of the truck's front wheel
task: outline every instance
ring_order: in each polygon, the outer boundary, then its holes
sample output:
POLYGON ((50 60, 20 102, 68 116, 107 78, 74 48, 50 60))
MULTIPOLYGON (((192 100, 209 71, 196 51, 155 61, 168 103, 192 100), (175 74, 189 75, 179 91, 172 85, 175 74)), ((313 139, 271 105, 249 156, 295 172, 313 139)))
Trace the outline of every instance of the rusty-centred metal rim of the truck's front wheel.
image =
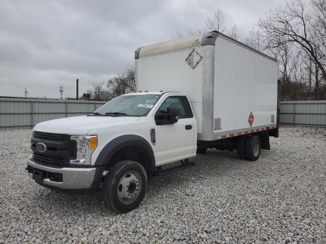
POLYGON ((119 180, 118 198, 122 203, 130 204, 139 195, 142 187, 142 179, 138 172, 128 171, 119 180))

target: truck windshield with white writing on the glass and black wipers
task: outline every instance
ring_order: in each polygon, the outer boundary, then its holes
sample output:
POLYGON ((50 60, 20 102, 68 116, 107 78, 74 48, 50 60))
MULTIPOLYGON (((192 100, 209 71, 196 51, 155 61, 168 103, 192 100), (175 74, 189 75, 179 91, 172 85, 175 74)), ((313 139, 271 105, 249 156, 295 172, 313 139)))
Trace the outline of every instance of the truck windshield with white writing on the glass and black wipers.
POLYGON ((122 95, 108 101, 94 115, 146 116, 161 95, 122 95))

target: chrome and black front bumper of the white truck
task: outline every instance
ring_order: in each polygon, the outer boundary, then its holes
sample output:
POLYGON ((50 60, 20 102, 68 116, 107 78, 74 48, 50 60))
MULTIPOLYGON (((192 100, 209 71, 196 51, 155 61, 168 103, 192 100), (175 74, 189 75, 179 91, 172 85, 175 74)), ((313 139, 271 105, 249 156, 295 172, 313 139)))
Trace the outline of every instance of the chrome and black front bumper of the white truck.
POLYGON ((63 193, 90 195, 99 187, 104 167, 52 168, 27 159, 29 176, 39 185, 63 193))

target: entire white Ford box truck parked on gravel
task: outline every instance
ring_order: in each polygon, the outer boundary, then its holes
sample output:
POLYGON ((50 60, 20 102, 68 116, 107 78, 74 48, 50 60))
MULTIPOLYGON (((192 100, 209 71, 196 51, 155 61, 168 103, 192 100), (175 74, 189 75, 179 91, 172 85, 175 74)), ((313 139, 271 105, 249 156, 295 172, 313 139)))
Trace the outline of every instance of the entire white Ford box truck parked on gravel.
POLYGON ((139 92, 34 127, 26 170, 39 185, 102 190, 109 208, 128 212, 149 177, 194 166, 207 148, 255 161, 278 137, 277 61, 221 33, 138 48, 135 71, 139 92))

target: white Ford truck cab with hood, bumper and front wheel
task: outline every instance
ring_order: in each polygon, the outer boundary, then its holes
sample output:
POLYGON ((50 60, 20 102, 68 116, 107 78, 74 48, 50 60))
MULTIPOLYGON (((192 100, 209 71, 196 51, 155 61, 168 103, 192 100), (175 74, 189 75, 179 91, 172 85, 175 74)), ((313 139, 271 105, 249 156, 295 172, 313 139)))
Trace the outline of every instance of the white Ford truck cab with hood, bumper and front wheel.
POLYGON ((73 194, 101 187, 106 205, 126 212, 159 166, 187 167, 196 156, 197 122, 184 93, 131 93, 87 116, 39 123, 31 143, 27 170, 38 184, 73 194))

